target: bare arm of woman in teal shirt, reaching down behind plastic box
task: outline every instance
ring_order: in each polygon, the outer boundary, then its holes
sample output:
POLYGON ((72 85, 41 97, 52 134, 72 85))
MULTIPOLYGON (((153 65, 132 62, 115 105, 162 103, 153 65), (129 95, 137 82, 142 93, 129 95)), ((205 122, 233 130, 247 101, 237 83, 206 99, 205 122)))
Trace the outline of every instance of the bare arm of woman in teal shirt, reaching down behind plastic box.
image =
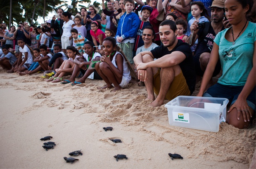
POLYGON ((197 96, 203 96, 206 86, 211 80, 211 77, 213 75, 213 71, 218 62, 218 59, 219 59, 219 46, 215 42, 213 42, 213 49, 211 50, 209 63, 204 72, 204 76, 201 82, 201 87, 199 89, 197 96))

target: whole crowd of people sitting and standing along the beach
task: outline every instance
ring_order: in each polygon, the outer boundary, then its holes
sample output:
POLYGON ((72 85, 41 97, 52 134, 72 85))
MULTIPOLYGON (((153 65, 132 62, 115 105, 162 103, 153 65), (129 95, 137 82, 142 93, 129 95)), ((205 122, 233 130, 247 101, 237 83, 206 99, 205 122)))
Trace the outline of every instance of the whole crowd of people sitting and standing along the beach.
POLYGON ((228 124, 249 127, 256 104, 255 0, 106 4, 101 14, 94 5, 73 15, 59 8, 37 27, 19 23, 8 30, 1 23, 0 66, 19 75, 43 71, 47 82, 104 80, 102 88, 115 91, 138 82, 153 107, 191 95, 202 77, 197 96, 228 98, 228 124))

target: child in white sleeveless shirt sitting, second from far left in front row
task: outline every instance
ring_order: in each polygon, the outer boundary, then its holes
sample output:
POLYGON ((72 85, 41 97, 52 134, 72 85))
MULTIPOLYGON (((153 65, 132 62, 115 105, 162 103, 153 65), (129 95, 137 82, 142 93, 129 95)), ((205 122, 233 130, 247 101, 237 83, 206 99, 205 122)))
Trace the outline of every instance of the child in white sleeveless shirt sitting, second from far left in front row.
POLYGON ((24 72, 34 62, 33 55, 30 49, 28 48, 28 46, 25 45, 25 42, 22 38, 19 38, 17 40, 17 43, 19 45, 19 58, 18 58, 18 63, 14 68, 14 72, 24 72))

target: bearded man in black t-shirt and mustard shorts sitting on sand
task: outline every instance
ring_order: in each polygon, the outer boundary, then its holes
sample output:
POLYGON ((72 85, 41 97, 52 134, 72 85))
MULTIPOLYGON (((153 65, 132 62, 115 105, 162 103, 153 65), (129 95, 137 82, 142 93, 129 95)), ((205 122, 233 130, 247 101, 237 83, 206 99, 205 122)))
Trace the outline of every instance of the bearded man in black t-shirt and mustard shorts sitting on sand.
POLYGON ((174 21, 163 21, 159 26, 162 45, 134 57, 138 79, 145 82, 150 106, 157 107, 164 99, 188 96, 194 92, 195 70, 192 52, 187 43, 176 38, 174 21), (156 58, 156 60, 154 60, 156 58), (155 99, 154 92, 158 95, 155 99))

